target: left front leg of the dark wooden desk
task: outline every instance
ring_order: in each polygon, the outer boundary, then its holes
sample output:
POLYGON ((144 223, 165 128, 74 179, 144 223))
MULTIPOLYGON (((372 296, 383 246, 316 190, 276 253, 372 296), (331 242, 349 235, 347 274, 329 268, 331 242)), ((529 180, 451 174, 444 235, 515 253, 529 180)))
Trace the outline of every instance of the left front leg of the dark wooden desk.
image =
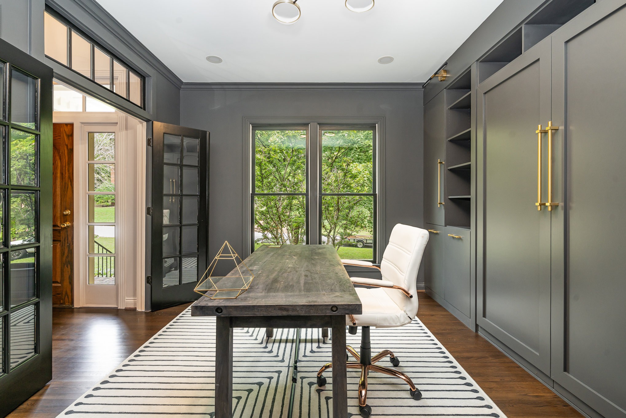
POLYGON ((233 329, 230 317, 217 317, 215 334, 215 418, 233 413, 233 329))

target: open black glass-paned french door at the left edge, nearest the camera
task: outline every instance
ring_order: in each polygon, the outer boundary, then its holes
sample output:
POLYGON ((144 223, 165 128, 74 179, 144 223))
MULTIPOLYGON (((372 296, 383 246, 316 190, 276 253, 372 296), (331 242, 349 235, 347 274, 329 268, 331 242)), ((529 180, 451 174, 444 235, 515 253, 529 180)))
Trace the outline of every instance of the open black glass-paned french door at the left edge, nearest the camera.
POLYGON ((52 75, 0 40, 0 416, 52 377, 52 75))

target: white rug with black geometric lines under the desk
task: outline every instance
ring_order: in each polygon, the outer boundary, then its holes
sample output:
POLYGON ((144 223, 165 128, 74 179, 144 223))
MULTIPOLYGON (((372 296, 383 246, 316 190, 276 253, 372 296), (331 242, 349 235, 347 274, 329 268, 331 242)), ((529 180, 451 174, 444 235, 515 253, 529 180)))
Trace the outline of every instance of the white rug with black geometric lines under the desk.
MULTIPOLYGON (((359 333, 360 334, 360 333, 359 333)), ((287 418, 295 330, 234 330, 233 417, 287 418)), ((347 335, 357 348, 360 335, 347 335)), ((390 349, 423 398, 413 400, 399 379, 372 373, 367 404, 373 417, 506 418, 493 401, 418 319, 396 329, 371 330, 372 352, 390 349)), ((319 367, 331 359, 331 342, 319 329, 300 338, 294 417, 332 416, 332 377, 317 387, 319 367)), ((381 360, 382 365, 390 365, 381 360)), ((358 370, 348 370, 348 416, 360 417, 358 370)), ((215 319, 185 310, 59 417, 213 417, 215 319)))

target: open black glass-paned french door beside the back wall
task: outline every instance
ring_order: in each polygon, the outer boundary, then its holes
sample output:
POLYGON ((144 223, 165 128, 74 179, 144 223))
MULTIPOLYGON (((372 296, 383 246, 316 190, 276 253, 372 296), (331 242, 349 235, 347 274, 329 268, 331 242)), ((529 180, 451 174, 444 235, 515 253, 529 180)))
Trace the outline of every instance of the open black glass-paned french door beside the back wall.
POLYGON ((207 268, 208 132, 153 122, 146 309, 192 302, 207 268))

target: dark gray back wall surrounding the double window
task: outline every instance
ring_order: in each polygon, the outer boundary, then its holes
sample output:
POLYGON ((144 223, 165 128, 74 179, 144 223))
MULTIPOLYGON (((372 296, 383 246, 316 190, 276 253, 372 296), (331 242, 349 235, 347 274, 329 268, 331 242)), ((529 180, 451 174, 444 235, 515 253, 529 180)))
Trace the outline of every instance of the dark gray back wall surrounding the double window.
MULTIPOLYGON (((384 116, 386 242, 396 223, 423 226, 423 92, 409 90, 190 89, 181 92, 182 125, 208 130, 212 257, 225 240, 242 253, 244 117, 384 116)), ((187 88, 186 88, 187 87, 187 88)), ((246 243, 247 245, 247 243, 246 243)), ((418 282, 423 283, 420 273, 418 282)))

